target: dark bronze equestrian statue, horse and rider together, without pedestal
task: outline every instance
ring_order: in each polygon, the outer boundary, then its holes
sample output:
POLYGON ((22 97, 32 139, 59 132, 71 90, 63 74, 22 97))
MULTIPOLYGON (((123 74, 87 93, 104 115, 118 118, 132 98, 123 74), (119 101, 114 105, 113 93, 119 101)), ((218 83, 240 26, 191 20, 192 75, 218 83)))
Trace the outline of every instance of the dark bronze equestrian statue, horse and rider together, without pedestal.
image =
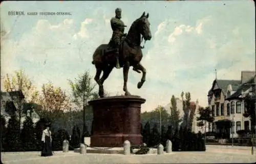
POLYGON ((124 34, 124 25, 121 20, 121 9, 115 10, 116 16, 111 19, 111 28, 113 30, 112 38, 109 44, 99 45, 93 53, 93 62, 96 68, 94 80, 99 85, 99 96, 104 97, 103 83, 109 77, 114 67, 123 68, 123 91, 125 96, 131 95, 127 90, 127 79, 130 66, 133 70, 141 73, 142 77, 137 88, 140 89, 146 80, 146 69, 141 65, 140 61, 143 57, 141 41, 144 39, 151 40, 150 22, 148 21, 148 13, 145 12, 136 19, 128 32, 124 34), (141 37, 142 36, 142 37, 141 37), (103 75, 100 78, 100 74, 103 75))

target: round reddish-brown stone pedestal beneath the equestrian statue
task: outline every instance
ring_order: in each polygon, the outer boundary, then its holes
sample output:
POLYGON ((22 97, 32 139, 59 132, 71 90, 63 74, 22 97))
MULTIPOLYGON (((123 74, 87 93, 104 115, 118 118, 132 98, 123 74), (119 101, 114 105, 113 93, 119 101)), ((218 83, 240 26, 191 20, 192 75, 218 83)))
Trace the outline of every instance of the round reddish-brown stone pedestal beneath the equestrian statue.
POLYGON ((91 147, 123 147, 142 144, 140 110, 145 99, 139 96, 113 96, 89 101, 93 107, 91 147))

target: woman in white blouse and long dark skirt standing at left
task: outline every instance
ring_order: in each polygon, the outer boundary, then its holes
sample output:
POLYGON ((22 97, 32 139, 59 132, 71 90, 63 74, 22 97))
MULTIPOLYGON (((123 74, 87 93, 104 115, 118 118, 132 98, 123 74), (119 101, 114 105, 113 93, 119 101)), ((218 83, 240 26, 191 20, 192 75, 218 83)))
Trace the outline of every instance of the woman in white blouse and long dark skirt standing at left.
POLYGON ((50 124, 46 124, 46 129, 42 131, 42 151, 41 156, 52 156, 52 132, 50 124))

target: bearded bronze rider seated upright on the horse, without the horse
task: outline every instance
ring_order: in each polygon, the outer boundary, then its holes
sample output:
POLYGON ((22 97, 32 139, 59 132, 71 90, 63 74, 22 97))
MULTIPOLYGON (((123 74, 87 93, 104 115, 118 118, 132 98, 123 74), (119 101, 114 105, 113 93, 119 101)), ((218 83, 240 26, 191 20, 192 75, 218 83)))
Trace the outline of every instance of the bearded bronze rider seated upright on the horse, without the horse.
POLYGON ((123 33, 124 32, 124 27, 126 27, 126 25, 124 25, 123 21, 121 20, 121 12, 122 12, 122 10, 120 8, 117 8, 115 12, 116 12, 116 16, 113 17, 110 20, 111 28, 113 30, 113 34, 112 34, 111 40, 114 41, 113 47, 115 48, 116 68, 120 68, 119 60, 118 60, 119 46, 121 44, 121 38, 123 36, 126 36, 126 34, 123 33))

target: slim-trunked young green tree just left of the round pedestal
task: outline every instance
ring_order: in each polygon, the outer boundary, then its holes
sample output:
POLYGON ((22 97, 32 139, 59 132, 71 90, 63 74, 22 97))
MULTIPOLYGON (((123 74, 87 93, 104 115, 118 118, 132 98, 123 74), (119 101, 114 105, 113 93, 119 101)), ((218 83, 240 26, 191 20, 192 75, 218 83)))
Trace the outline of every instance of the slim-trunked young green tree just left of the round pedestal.
MULTIPOLYGON (((88 106, 88 101, 98 98, 98 94, 94 92, 95 84, 93 84, 92 77, 90 76, 89 71, 79 75, 78 78, 75 78, 74 82, 69 80, 70 87, 72 89, 73 99, 72 101, 83 110, 83 136, 86 131, 86 107, 88 106)), ((82 139, 83 140, 83 139, 82 139)))

